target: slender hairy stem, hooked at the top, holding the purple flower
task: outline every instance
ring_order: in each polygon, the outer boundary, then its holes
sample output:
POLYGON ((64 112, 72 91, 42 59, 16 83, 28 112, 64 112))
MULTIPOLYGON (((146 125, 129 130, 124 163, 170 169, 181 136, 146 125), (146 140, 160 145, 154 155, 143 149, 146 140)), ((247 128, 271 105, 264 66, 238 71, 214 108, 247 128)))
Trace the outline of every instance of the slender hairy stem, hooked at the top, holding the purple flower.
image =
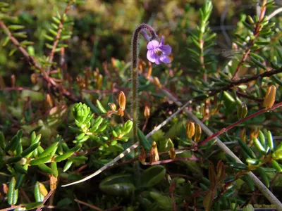
MULTIPOLYGON (((134 33, 133 33, 133 38, 131 41, 131 48, 132 48, 132 65, 131 65, 131 80, 132 80, 132 119, 133 119, 133 141, 136 143, 138 141, 138 136, 137 136, 137 129, 138 129, 138 38, 140 32, 144 34, 144 30, 148 30, 152 37, 151 39, 157 38, 156 32, 154 32, 154 29, 150 27, 149 25, 142 23, 139 25, 134 33)), ((144 36, 144 35, 143 35, 144 36)), ((144 36, 145 39, 147 39, 146 36, 144 36)))

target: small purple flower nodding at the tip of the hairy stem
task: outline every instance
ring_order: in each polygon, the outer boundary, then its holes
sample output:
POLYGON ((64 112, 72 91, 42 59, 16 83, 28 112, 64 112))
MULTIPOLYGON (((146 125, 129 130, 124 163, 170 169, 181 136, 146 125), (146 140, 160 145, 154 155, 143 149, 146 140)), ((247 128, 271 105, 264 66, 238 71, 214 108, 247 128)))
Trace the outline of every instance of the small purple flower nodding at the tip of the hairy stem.
POLYGON ((171 46, 164 45, 164 36, 161 37, 161 41, 153 39, 147 44, 147 59, 159 65, 161 62, 170 63, 171 60, 168 58, 168 55, 171 54, 171 46))

